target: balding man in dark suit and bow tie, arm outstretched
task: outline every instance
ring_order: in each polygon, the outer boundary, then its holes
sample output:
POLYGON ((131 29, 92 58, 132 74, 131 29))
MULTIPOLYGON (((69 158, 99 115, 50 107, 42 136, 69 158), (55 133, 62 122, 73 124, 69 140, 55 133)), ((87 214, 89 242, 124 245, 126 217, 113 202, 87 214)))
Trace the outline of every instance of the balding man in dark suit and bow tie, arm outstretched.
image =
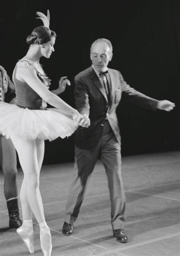
POLYGON ((170 101, 158 101, 145 96, 131 88, 118 70, 107 68, 112 59, 112 44, 109 40, 104 38, 96 40, 91 46, 90 58, 92 66, 75 77, 75 104, 83 116, 76 132, 76 174, 66 204, 62 232, 64 235, 72 234, 87 182, 100 156, 108 179, 113 234, 118 242, 128 242, 123 229, 125 192, 121 173, 121 139, 116 108, 122 96, 138 106, 151 110, 170 111, 175 105, 170 101))

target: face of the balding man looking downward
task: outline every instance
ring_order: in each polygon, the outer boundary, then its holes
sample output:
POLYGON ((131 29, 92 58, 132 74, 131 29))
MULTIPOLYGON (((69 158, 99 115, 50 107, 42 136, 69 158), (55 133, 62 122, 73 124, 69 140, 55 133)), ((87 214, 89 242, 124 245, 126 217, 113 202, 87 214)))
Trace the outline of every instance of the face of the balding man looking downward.
POLYGON ((98 42, 90 54, 92 64, 98 72, 104 72, 107 69, 109 61, 112 59, 112 53, 109 46, 104 42, 98 42))

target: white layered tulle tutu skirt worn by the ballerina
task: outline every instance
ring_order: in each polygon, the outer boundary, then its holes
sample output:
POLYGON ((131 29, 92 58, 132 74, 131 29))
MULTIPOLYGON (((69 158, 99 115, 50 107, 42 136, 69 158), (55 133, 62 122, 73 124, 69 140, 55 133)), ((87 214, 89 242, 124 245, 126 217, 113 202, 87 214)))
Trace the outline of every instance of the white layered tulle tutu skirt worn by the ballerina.
POLYGON ((71 136, 76 129, 77 123, 58 109, 30 110, 0 102, 0 134, 7 139, 17 135, 23 139, 53 141, 71 136))

